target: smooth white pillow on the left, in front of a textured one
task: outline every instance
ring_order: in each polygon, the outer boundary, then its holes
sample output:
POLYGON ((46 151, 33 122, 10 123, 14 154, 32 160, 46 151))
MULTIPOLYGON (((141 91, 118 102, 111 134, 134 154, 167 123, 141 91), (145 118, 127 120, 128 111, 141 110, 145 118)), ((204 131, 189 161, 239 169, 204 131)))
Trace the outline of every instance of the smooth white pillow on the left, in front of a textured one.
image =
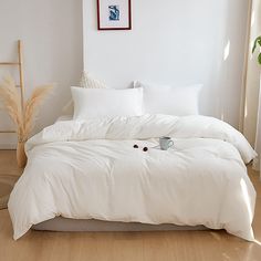
POLYGON ((71 87, 74 119, 143 114, 143 88, 106 90, 71 87))

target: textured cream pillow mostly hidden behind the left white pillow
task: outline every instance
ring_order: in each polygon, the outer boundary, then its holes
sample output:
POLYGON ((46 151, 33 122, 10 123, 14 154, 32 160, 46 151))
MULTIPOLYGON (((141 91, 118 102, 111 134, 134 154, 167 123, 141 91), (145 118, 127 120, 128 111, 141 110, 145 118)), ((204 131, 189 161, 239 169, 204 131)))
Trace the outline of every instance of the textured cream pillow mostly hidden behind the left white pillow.
MULTIPOLYGON (((86 87, 86 88, 107 88, 107 86, 93 77, 88 72, 83 72, 81 80, 80 80, 80 87, 86 87)), ((73 115, 73 100, 71 98, 70 102, 63 107, 63 113, 73 115)))

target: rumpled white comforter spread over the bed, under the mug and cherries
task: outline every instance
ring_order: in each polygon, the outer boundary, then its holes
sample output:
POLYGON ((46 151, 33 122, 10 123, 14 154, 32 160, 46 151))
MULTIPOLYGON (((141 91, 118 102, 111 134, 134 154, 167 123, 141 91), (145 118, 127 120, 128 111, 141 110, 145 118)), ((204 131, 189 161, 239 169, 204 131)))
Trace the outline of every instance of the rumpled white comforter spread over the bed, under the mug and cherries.
POLYGON ((58 122, 27 143, 27 154, 9 200, 14 239, 32 225, 62 216, 203 225, 253 240, 255 191, 244 163, 255 153, 239 132, 216 118, 58 122), (160 136, 173 137, 175 146, 155 147, 160 136))

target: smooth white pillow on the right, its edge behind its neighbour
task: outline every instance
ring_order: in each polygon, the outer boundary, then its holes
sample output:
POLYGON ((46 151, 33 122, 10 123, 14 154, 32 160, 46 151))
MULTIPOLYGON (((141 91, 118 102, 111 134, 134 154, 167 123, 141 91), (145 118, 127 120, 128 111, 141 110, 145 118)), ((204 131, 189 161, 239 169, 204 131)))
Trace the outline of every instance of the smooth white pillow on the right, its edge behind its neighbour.
POLYGON ((144 113, 176 116, 198 115, 198 96, 201 84, 174 87, 135 82, 134 87, 144 88, 144 113))

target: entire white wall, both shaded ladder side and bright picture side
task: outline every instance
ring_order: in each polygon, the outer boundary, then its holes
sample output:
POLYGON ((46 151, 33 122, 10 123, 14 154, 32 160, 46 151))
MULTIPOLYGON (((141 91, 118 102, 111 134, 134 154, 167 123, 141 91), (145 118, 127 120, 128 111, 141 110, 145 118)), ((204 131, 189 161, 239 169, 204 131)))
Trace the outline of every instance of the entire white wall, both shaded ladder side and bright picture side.
MULTIPOLYGON (((247 0, 132 0, 132 31, 97 31, 96 0, 83 0, 84 63, 108 85, 132 80, 189 84, 202 82, 201 113, 239 124, 247 0), (225 61, 225 49, 230 43, 225 61)), ((35 130, 53 123, 82 71, 82 0, 0 1, 0 61, 14 59, 24 42, 27 94, 56 83, 35 130)), ((0 70, 2 72, 2 70, 0 70)), ((9 127, 0 114, 0 128, 9 127)), ((9 146, 10 136, 1 135, 9 146)))

